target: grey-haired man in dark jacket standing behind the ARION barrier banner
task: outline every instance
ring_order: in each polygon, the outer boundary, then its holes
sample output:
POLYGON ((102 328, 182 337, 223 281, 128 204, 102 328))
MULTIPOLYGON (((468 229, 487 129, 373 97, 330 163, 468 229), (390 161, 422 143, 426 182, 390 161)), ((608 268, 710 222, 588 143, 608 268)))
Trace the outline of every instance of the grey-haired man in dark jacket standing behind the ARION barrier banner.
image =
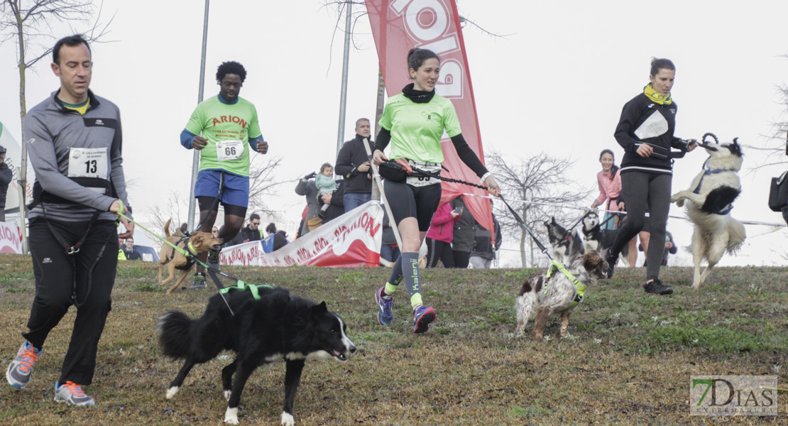
POLYGON ((336 174, 345 180, 345 213, 372 199, 372 175, 370 159, 364 148, 364 138, 368 140, 370 152, 374 143, 370 139, 370 120, 355 120, 355 138, 342 145, 336 154, 336 174))

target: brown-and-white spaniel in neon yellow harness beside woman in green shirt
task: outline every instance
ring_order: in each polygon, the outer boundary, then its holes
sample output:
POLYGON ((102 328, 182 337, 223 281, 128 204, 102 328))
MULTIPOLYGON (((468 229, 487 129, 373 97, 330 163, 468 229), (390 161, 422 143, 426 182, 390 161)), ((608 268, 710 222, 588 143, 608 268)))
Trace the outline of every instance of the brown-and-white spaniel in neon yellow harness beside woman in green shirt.
POLYGON ((567 335, 569 316, 582 302, 585 287, 593 286, 598 279, 605 278, 608 262, 604 261, 596 251, 590 250, 576 257, 566 269, 578 280, 580 287, 575 285, 566 274, 557 270, 551 273, 547 283, 545 283, 545 274, 530 276, 525 283, 522 283, 520 294, 515 300, 516 334, 525 332, 528 320, 535 316, 533 336, 539 341, 542 339, 548 317, 552 313, 561 313, 559 337, 567 335), (545 286, 547 289, 543 290, 545 286))

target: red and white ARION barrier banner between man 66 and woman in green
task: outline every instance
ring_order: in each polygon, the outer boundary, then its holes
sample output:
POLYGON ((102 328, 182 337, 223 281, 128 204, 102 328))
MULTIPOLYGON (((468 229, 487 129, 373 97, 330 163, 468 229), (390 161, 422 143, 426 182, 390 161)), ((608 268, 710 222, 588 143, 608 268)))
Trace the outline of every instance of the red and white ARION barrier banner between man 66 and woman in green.
POLYGON ((226 247, 219 254, 219 263, 243 266, 378 266, 382 238, 383 209, 379 202, 371 201, 272 253, 263 252, 260 241, 226 247))

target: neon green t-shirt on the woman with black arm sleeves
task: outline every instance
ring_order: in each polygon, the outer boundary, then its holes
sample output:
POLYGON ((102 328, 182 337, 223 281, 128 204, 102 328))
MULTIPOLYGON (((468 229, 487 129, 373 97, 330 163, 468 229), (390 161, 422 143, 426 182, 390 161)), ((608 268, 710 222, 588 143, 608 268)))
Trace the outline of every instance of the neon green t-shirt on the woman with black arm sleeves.
POLYGON ((459 118, 452 101, 438 94, 426 103, 415 103, 404 94, 388 98, 378 122, 392 134, 392 160, 408 158, 431 163, 443 162, 440 139, 444 128, 449 137, 459 135, 459 118))

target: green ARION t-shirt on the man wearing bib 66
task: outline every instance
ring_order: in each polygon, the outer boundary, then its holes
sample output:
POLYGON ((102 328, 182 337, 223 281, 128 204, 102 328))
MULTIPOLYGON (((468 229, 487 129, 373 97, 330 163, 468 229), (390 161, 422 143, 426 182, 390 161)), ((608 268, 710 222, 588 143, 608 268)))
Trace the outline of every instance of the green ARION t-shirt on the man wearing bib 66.
POLYGON ((200 102, 191 113, 186 130, 203 133, 208 145, 200 151, 199 169, 224 169, 249 176, 249 138, 262 135, 255 105, 244 98, 228 105, 218 96, 200 102))

